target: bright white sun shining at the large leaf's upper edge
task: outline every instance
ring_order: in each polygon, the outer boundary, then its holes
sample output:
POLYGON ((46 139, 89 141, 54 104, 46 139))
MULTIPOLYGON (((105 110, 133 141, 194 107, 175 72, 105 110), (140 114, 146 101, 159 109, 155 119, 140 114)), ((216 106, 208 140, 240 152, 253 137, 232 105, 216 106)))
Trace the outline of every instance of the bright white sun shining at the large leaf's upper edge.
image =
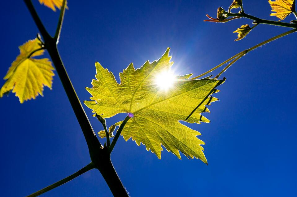
POLYGON ((175 82, 176 75, 170 70, 162 71, 155 77, 155 85, 157 85, 160 90, 169 90, 173 87, 175 82))

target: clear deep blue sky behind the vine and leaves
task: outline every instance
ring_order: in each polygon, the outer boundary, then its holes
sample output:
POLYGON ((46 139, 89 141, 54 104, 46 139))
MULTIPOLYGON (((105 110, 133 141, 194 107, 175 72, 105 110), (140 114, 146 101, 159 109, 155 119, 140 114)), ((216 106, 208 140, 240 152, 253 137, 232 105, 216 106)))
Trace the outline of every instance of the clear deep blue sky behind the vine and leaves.
MULTIPOLYGON (((171 47, 180 74, 196 76, 239 51, 289 29, 259 25, 234 42, 232 33, 249 20, 203 22, 205 14, 227 9, 232 0, 213 1, 72 1, 66 11, 59 50, 81 101, 90 94, 94 62, 116 74, 133 62, 140 67, 171 47), (82 3, 83 2, 83 3, 82 3)), ((58 12, 33 3, 53 34, 58 12)), ((265 19, 267 1, 244 1, 245 11, 265 19)), ((2 2, 1 67, 4 77, 19 54, 18 46, 38 32, 23 1, 2 2)), ((285 21, 294 20, 293 15, 285 21)), ((234 64, 222 77, 220 99, 205 116, 211 123, 190 124, 202 133, 209 165, 162 160, 135 142, 119 138, 111 160, 131 196, 296 196, 296 36, 267 44, 234 64)), ((48 56, 46 54, 46 56, 48 56)), ((216 71, 214 74, 217 74, 216 71)), ((4 81, 0 82, 3 85, 4 81)), ((14 94, 0 99, 1 196, 24 196, 81 169, 90 162, 80 126, 59 77, 53 89, 20 104, 14 94)), ((93 128, 100 123, 85 107, 93 128)), ((123 119, 115 116, 107 123, 123 119)), ((103 140, 100 139, 101 142, 103 140)), ((89 171, 43 196, 111 196, 98 170, 89 171)))

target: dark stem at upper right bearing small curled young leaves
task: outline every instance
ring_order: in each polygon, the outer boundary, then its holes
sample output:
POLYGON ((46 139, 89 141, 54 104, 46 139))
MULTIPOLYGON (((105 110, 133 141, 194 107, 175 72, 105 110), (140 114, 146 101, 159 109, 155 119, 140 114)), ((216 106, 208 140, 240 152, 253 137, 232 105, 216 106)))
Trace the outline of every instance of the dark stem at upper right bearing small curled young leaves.
POLYGON ((254 21, 256 21, 256 23, 259 23, 259 24, 271 24, 271 25, 288 27, 288 28, 297 28, 297 24, 295 24, 295 23, 284 23, 284 22, 273 21, 273 20, 264 20, 264 19, 257 18, 255 16, 251 16, 246 13, 228 13, 228 15, 229 16, 245 17, 245 18, 254 20, 254 21))

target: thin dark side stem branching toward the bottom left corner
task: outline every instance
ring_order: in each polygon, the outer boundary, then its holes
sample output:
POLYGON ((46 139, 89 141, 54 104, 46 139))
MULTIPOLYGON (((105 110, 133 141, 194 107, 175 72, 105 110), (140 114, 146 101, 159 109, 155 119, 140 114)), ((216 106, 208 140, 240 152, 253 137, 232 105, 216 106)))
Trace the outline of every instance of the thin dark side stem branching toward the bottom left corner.
POLYGON ((58 182, 55 182, 54 184, 50 185, 50 186, 47 186, 33 194, 30 194, 28 195, 27 197, 33 197, 33 196, 38 196, 38 195, 41 195, 49 190, 52 190, 58 186, 61 186, 63 185, 64 183, 67 183, 68 181, 71 181, 72 179, 78 177, 79 175, 85 173, 85 172, 88 172, 89 170, 91 169, 94 169, 94 164, 93 163, 90 163, 88 165, 86 165, 85 167, 83 167, 82 169, 80 169, 79 171, 77 171, 76 173, 66 177, 66 178, 63 178, 62 180, 58 181, 58 182))

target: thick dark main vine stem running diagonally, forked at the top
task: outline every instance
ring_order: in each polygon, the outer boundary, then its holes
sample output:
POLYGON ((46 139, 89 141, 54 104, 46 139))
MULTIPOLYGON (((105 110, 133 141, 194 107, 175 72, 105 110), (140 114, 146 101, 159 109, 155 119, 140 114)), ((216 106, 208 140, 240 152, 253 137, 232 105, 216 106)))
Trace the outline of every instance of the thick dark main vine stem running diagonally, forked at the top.
MULTIPOLYGON (((59 23, 58 23, 58 27, 57 27, 57 31, 56 31, 56 35, 55 35, 56 38, 51 37, 47 33, 46 29, 44 28, 41 20, 39 19, 38 15, 37 15, 37 12, 35 11, 35 9, 33 7, 31 0, 24 0, 24 2, 33 17, 35 24, 37 25, 37 28, 39 29, 42 37, 44 38, 44 45, 50 55, 50 58, 52 59, 53 64, 55 65, 56 71, 59 75, 59 78, 63 84, 64 90, 68 96, 70 103, 71 103, 72 109, 76 115, 76 118, 77 118, 80 126, 81 126, 82 132, 84 134, 85 140, 88 145, 92 165, 94 165, 94 166, 92 166, 92 168, 97 168, 100 171, 100 173, 102 174, 103 178, 107 182, 107 185, 109 186, 109 188, 114 196, 128 196, 127 191, 125 190, 122 182, 120 181, 120 178, 118 177, 118 175, 111 163, 110 152, 107 147, 103 147, 101 145, 98 138, 96 137, 96 135, 93 131, 93 128, 90 125, 89 119, 86 116, 85 111, 81 105, 81 102, 80 102, 79 98, 77 97, 77 94, 76 94, 76 92, 73 88, 73 85, 69 79, 69 76, 66 72, 64 64, 62 62, 62 59, 59 55, 59 51, 57 48, 57 43, 58 43, 57 41, 59 40, 59 33, 61 31, 61 27, 62 27, 62 23, 63 23, 63 15, 64 15, 64 11, 65 11, 66 1, 65 0, 63 1, 64 9, 62 9, 61 13, 60 13, 59 23)), ((124 127, 124 124, 122 127, 124 127)), ((115 142, 113 142, 113 147, 115 145, 115 142)), ((91 166, 89 166, 89 167, 91 167, 91 166)), ((84 173, 85 172, 84 170, 87 170, 87 169, 82 169, 82 171, 80 171, 80 173, 84 173)), ((71 175, 71 176, 74 176, 74 175, 71 175)), ((67 182, 67 180, 68 180, 67 178, 63 179, 60 182, 55 183, 56 184, 55 186, 57 187, 65 182, 67 182)), ((46 192, 46 188, 45 188, 44 192, 46 192)))

